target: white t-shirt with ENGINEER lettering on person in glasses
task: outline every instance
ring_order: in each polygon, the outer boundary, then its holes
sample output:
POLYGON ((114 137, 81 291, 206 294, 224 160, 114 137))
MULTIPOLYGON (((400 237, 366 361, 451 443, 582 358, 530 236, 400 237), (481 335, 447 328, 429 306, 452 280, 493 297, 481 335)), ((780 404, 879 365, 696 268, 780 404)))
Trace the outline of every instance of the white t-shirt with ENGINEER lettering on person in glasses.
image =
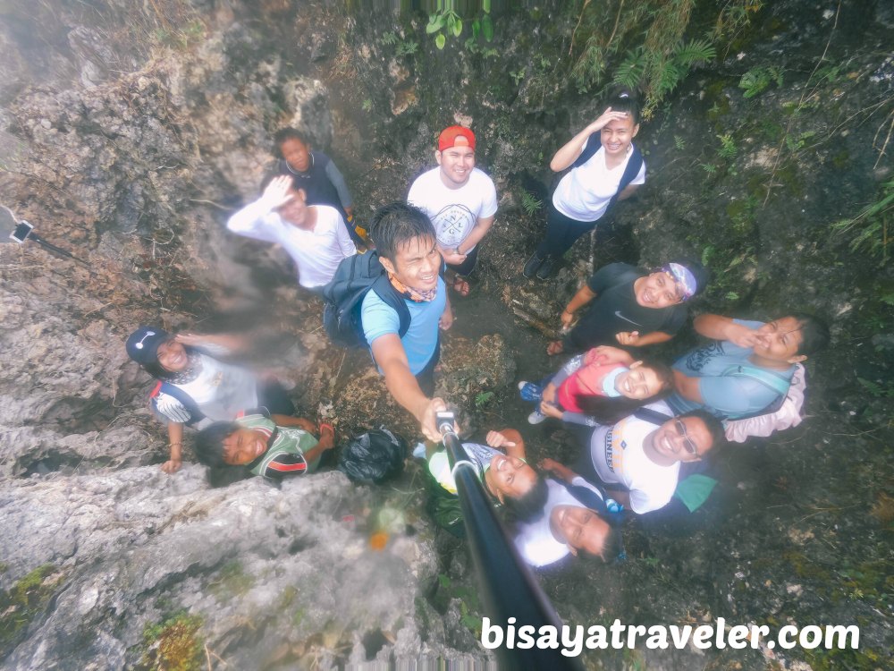
MULTIPOLYGON (((670 406, 663 401, 645 407, 673 415, 670 406)), ((590 438, 590 458, 600 480, 627 487, 630 508, 635 513, 649 513, 667 505, 677 488, 679 462, 661 466, 649 459, 643 450, 645 437, 656 429, 657 424, 630 415, 613 427, 597 427, 590 438)))

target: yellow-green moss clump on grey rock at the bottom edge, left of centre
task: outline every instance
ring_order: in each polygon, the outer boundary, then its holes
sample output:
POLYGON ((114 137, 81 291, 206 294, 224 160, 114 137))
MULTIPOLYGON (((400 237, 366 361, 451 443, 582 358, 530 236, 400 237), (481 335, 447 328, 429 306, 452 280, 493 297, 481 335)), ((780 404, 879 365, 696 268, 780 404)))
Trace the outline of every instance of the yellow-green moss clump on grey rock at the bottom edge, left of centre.
POLYGON ((185 610, 147 624, 143 630, 145 651, 140 666, 152 671, 198 671, 204 662, 204 643, 198 636, 202 618, 185 610))

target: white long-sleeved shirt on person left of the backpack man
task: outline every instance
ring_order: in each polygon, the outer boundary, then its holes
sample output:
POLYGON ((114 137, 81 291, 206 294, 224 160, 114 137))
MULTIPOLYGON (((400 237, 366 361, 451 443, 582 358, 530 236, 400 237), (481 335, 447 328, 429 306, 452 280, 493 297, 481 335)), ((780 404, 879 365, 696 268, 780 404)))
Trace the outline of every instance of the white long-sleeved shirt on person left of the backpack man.
POLYGON ((342 259, 353 256, 357 249, 337 209, 328 205, 311 207, 316 209, 312 231, 284 221, 263 199, 240 209, 230 217, 226 227, 247 238, 283 245, 298 266, 299 285, 307 288, 328 285, 342 259))

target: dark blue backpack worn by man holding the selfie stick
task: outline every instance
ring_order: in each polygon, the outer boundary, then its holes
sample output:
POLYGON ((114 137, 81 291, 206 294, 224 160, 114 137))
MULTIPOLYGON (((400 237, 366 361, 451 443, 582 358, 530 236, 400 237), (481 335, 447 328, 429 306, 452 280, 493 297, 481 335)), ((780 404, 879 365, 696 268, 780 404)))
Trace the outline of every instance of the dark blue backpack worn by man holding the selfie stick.
POLYGON ((406 335, 410 319, 407 304, 388 280, 379 255, 367 251, 343 259, 335 269, 332 282, 323 287, 323 327, 333 344, 367 347, 360 323, 360 306, 370 290, 397 312, 401 319, 398 335, 401 338, 406 335))

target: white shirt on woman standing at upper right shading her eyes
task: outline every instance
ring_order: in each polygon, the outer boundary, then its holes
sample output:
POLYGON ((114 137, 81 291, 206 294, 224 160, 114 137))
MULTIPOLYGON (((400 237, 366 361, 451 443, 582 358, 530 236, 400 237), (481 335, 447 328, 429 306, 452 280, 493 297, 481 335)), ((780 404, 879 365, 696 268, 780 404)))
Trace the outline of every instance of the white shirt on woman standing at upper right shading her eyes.
MULTIPOLYGON (((588 140, 587 140, 588 141, 588 140)), ((584 142, 586 148, 586 142, 584 142)), ((595 221, 605 214, 612 196, 618 192, 620 178, 624 176, 633 145, 620 166, 605 166, 605 149, 600 147, 583 166, 572 169, 561 178, 552 194, 552 205, 565 217, 577 221, 595 221)), ((645 183, 645 161, 631 184, 645 183)))

